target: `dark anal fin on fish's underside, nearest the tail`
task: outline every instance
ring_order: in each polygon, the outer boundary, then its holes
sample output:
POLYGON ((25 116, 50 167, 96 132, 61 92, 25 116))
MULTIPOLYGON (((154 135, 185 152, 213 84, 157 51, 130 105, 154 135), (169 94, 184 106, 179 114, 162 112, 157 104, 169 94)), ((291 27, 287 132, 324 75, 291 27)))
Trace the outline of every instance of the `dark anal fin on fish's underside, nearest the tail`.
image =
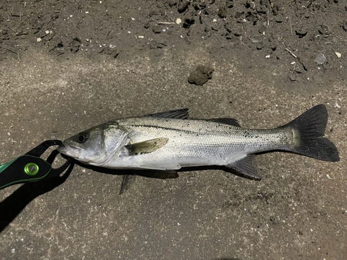
POLYGON ((255 157, 255 155, 247 155, 237 162, 226 165, 226 167, 235 171, 239 176, 246 177, 251 180, 262 180, 262 176, 257 174, 257 170, 252 164, 253 157, 255 157))

